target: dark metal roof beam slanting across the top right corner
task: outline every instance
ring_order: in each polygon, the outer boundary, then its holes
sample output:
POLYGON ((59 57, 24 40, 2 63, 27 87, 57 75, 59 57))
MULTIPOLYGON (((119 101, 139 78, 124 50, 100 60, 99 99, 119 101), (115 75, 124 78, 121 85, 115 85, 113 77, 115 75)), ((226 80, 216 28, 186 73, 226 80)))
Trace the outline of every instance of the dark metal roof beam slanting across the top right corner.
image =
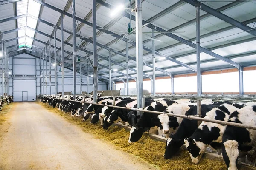
POLYGON ((246 26, 246 25, 240 23, 239 21, 234 20, 231 17, 228 17, 225 14, 222 14, 221 12, 216 11, 213 8, 210 8, 209 6, 204 5, 203 3, 198 2, 197 0, 183 0, 183 1, 185 1, 186 3, 189 3, 192 6, 200 5, 201 10, 206 11, 207 13, 213 15, 214 17, 217 17, 217 18, 219 18, 219 19, 221 19, 221 20, 223 20, 223 21, 225 21, 225 22, 227 22, 227 23, 229 23, 229 24, 231 24, 233 26, 236 26, 237 28, 240 28, 241 30, 244 30, 244 31, 246 31, 246 32, 256 36, 256 32, 253 31, 253 29, 251 27, 246 26))

